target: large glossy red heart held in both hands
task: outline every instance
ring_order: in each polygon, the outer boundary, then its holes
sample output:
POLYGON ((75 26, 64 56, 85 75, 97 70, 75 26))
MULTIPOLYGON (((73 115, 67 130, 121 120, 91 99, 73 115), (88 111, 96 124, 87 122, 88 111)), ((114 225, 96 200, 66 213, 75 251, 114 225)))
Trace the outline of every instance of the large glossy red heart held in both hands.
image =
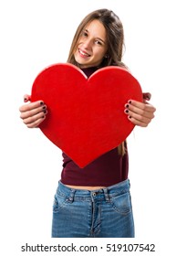
POLYGON ((98 69, 89 78, 71 64, 56 64, 36 77, 31 100, 47 104, 41 131, 80 167, 121 144, 133 130, 124 113, 142 101, 140 83, 126 69, 98 69))

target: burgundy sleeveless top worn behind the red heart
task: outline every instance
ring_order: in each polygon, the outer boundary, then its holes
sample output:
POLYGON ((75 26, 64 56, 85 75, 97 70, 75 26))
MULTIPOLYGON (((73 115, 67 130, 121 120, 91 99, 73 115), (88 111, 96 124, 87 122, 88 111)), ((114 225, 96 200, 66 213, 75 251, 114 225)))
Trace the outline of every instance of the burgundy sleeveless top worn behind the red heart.
MULTIPOLYGON (((89 77, 97 68, 82 69, 89 77)), ((93 144, 92 144, 93 146, 93 144)), ((85 153, 86 154, 86 153, 85 153)), ((80 168, 63 152, 61 182, 72 186, 109 187, 128 178, 129 156, 119 155, 118 148, 99 156, 84 168, 80 168)))

